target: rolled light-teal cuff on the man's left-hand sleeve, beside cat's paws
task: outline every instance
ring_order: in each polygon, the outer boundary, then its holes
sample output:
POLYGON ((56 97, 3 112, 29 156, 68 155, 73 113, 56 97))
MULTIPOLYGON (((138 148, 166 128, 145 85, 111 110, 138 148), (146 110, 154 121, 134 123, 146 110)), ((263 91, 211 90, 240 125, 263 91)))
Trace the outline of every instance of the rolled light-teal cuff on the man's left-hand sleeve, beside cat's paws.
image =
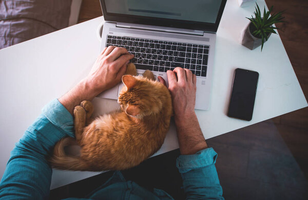
POLYGON ((59 100, 54 99, 42 109, 43 115, 55 126, 75 137, 73 116, 66 110, 59 100))

